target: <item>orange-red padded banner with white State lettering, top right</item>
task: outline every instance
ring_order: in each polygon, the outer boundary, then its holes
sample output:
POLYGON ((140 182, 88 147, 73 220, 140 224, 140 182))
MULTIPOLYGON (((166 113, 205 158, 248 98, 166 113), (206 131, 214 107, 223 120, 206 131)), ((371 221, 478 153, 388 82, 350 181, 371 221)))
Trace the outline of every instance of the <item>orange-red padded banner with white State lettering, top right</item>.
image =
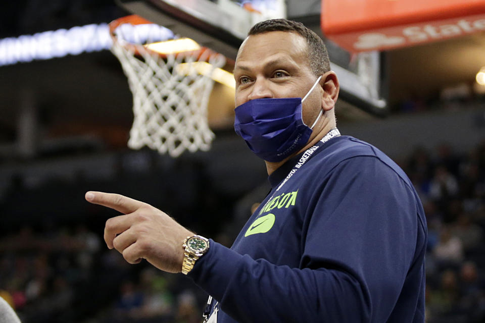
POLYGON ((485 31, 485 0, 322 0, 321 28, 350 52, 485 31))

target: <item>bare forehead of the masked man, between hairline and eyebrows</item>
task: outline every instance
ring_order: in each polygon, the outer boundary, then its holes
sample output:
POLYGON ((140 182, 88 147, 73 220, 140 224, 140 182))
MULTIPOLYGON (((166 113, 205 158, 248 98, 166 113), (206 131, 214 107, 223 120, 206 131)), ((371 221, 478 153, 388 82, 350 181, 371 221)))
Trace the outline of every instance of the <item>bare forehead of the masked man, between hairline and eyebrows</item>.
POLYGON ((290 60, 302 64, 307 60, 308 45, 300 34, 288 31, 269 31, 251 35, 237 52, 235 69, 264 64, 268 60, 290 60))

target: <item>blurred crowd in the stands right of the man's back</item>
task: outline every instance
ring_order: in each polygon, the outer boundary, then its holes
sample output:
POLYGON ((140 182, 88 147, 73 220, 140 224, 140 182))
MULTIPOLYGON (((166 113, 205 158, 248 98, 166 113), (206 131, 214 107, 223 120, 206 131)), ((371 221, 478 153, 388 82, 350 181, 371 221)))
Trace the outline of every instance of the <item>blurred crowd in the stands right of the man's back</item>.
POLYGON ((446 144, 402 161, 428 225, 428 322, 485 321, 485 142, 461 155, 446 144))

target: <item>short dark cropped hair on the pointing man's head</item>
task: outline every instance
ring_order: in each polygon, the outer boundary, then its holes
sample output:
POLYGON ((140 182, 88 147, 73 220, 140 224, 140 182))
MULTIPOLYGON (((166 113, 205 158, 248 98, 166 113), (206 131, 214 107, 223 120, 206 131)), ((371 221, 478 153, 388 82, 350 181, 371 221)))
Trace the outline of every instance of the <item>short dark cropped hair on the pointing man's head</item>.
POLYGON ((301 22, 288 19, 270 19, 257 23, 248 32, 248 36, 270 31, 288 31, 300 34, 308 44, 308 65, 315 76, 330 71, 330 60, 323 40, 301 22))

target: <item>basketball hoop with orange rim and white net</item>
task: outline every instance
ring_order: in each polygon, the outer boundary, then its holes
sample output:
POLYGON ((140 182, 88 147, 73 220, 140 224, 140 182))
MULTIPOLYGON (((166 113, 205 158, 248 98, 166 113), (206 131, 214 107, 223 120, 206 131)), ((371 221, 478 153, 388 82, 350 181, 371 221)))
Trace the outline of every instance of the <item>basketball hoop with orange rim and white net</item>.
POLYGON ((215 137, 207 121, 214 85, 211 75, 226 60, 203 47, 175 53, 147 48, 148 43, 173 38, 170 33, 136 15, 110 23, 111 51, 121 62, 133 94, 128 146, 148 146, 177 157, 185 149, 209 150, 215 137))

